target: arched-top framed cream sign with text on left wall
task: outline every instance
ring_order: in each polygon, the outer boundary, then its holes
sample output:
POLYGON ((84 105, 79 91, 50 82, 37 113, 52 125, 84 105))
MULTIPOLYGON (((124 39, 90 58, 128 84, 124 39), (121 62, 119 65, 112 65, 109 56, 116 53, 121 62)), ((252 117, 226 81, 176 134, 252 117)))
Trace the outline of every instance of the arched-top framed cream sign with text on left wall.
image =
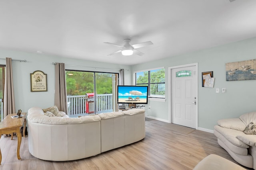
POLYGON ((47 92, 47 74, 42 71, 30 73, 31 92, 47 92))

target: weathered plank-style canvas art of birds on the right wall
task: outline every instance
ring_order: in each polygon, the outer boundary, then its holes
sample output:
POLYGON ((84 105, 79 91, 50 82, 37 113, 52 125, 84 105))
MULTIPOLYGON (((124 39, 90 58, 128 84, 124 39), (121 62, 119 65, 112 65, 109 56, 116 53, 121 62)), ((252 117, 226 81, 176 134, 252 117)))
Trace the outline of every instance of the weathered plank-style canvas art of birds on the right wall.
POLYGON ((256 80, 256 59, 226 63, 226 81, 256 80))

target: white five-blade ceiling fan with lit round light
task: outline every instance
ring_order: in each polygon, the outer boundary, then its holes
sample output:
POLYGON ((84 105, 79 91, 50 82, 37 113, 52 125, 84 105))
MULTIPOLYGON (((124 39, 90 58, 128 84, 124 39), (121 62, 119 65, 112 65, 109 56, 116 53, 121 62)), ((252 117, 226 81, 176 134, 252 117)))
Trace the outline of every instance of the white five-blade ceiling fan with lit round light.
POLYGON ((134 54, 140 55, 140 56, 144 55, 144 53, 142 53, 142 52, 140 52, 140 51, 138 51, 136 49, 153 44, 151 41, 147 41, 147 42, 144 42, 144 43, 138 43, 138 44, 130 45, 130 41, 131 41, 130 39, 124 39, 124 45, 123 46, 122 45, 113 44, 113 43, 108 43, 108 42, 104 42, 104 43, 122 48, 121 50, 118 50, 118 51, 116 51, 114 53, 111 53, 109 55, 113 55, 113 54, 121 52, 122 55, 132 55, 134 53, 134 54))

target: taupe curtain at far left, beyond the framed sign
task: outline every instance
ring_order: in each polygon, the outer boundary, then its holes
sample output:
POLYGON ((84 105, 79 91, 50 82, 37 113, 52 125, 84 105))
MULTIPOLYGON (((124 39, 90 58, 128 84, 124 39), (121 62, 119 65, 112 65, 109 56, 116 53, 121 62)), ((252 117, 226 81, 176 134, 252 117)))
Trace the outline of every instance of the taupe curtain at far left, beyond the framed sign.
POLYGON ((16 113, 12 78, 12 58, 6 58, 6 77, 4 84, 4 117, 16 113))

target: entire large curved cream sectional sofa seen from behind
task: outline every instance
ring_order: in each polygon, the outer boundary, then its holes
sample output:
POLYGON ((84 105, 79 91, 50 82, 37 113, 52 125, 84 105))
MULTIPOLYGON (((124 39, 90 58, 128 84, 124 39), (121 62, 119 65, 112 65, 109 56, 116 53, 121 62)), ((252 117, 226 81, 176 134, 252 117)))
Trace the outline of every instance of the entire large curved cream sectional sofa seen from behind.
POLYGON ((28 149, 42 160, 87 158, 144 139, 145 110, 99 115, 48 117, 40 107, 28 110, 28 149))

